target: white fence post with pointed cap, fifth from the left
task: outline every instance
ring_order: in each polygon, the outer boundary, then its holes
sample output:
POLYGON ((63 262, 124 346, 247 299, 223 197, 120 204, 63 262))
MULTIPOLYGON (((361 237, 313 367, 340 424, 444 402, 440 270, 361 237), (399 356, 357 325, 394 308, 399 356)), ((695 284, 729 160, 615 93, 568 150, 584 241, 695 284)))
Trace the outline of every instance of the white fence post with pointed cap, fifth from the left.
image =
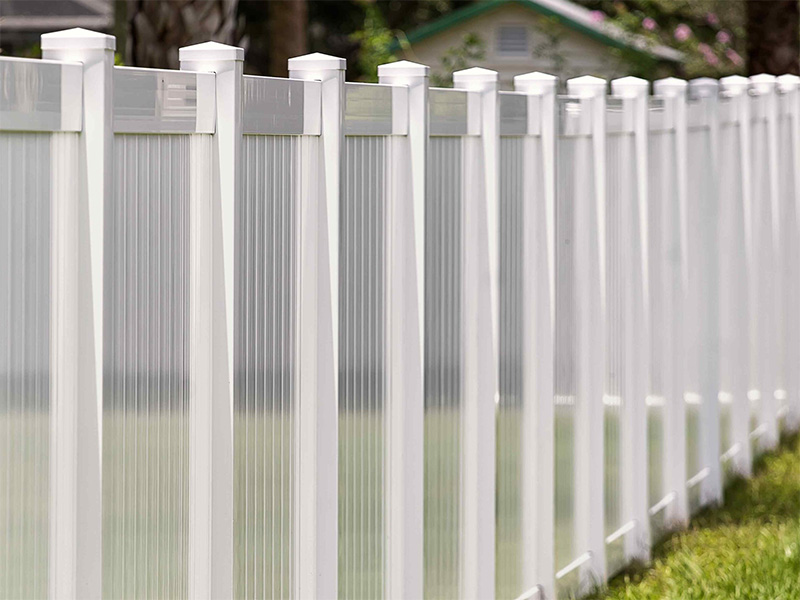
POLYGON ((498 395, 497 72, 453 73, 456 88, 481 94, 480 144, 465 140, 461 596, 494 598, 495 412, 498 395))

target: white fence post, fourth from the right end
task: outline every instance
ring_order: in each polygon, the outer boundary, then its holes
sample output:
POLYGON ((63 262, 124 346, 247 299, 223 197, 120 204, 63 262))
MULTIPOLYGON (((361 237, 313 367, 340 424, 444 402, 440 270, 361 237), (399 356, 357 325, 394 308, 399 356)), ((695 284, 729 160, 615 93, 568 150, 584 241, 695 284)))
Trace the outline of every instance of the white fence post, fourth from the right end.
MULTIPOLYGON (((706 186, 700 188, 700 196, 694 202, 693 224, 697 239, 698 255, 691 257, 694 268, 700 270, 700 289, 695 308, 699 311, 695 323, 699 325, 699 370, 702 408, 700 416, 701 466, 709 469, 702 485, 701 503, 718 504, 722 501, 722 469, 720 465, 720 407, 719 407, 719 83, 716 79, 703 77, 689 82, 689 95, 705 103, 705 114, 710 129, 709 149, 703 176, 706 186)), ((702 151, 702 149, 701 149, 702 151)), ((699 166, 699 165, 697 165, 699 166)), ((698 182, 692 182, 698 185, 698 182)), ((690 265, 691 268, 691 265, 690 265)))

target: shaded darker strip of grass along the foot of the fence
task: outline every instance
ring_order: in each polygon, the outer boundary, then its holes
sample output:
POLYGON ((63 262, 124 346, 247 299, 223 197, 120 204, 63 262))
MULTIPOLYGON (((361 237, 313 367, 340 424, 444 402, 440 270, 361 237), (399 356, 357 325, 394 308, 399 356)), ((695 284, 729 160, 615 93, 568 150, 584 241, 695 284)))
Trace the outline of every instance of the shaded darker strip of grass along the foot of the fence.
MULTIPOLYGON (((762 454, 754 463, 752 478, 733 480, 725 488, 724 497, 724 505, 701 510, 686 530, 662 538, 653 548, 650 564, 628 566, 609 582, 607 588, 590 598, 636 598, 635 586, 647 577, 672 577, 691 585, 694 576, 707 577, 714 573, 697 572, 692 577, 685 573, 670 573, 670 563, 674 563, 676 558, 681 563, 688 562, 679 555, 714 553, 717 551, 715 538, 731 537, 735 530, 778 529, 787 523, 797 523, 800 516, 800 436, 785 436, 774 452, 762 454)), ((752 540, 753 550, 757 552, 760 548, 756 542, 752 540)))

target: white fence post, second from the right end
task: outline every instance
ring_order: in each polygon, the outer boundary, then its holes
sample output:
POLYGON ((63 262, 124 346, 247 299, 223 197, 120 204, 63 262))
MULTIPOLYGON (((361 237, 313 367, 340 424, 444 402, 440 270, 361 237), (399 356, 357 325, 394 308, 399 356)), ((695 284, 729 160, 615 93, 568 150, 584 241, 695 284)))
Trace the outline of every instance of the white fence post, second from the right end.
MULTIPOLYGON (((750 89, 756 98, 761 99, 763 106, 763 117, 766 119, 766 139, 765 147, 762 149, 765 154, 752 156, 756 161, 765 161, 767 170, 762 177, 760 169, 755 169, 753 184, 759 185, 759 189, 753 189, 752 200, 753 214, 757 215, 764 210, 763 204, 769 204, 770 219, 767 223, 761 223, 756 217, 755 242, 757 244, 756 256, 760 258, 758 264, 758 345, 756 347, 758 361, 758 386, 761 392, 761 422, 765 426, 764 433, 760 439, 760 446, 769 450, 778 443, 778 411, 776 392, 778 387, 778 373, 780 365, 780 354, 778 348, 778 336, 783 323, 778 320, 780 306, 780 278, 777 273, 778 248, 780 247, 780 222, 778 210, 778 105, 776 95, 777 82, 774 75, 754 75, 750 77, 750 89), (758 179, 756 179, 758 177, 758 179), (764 180, 766 179, 766 180, 764 180), (769 240, 765 242, 763 234, 769 235, 769 240), (765 245, 766 243, 766 245, 765 245)), ((761 111, 759 111, 761 112, 761 111)), ((755 116, 751 114, 751 116, 755 116)), ((753 134, 753 141, 756 142, 753 134)))

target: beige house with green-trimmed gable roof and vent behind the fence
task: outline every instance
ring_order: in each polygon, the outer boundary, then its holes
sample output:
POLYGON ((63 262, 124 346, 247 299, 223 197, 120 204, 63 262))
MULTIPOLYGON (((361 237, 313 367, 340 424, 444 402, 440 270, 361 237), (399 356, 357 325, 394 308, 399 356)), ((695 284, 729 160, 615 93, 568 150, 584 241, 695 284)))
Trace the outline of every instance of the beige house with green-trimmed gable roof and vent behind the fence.
POLYGON ((430 65, 435 79, 441 79, 449 75, 443 72, 442 58, 462 46, 466 36, 478 36, 483 59, 471 60, 469 66, 498 71, 503 89, 513 88, 514 75, 530 71, 564 81, 579 75, 614 79, 635 72, 636 64, 652 76, 680 67, 681 52, 598 17, 602 15, 568 0, 477 2, 399 36, 394 50, 402 58, 430 65))

